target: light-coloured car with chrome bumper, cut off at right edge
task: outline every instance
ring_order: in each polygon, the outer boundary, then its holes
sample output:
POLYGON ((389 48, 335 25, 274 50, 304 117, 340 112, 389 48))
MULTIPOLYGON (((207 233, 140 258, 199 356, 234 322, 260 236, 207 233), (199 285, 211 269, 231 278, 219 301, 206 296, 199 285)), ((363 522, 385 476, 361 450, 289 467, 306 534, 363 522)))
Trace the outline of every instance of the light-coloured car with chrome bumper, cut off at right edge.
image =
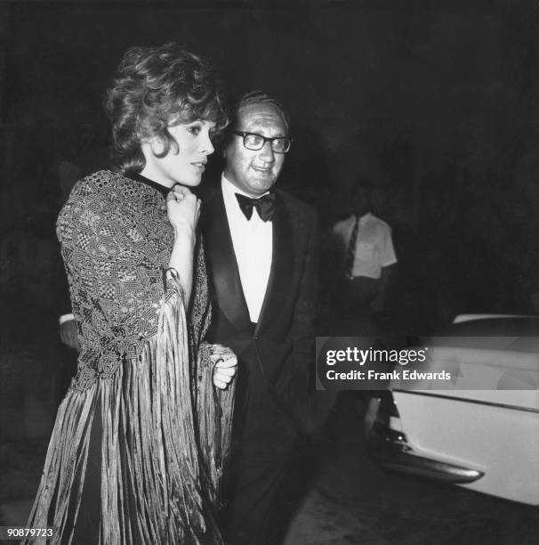
POLYGON ((539 318, 458 316, 425 341, 422 370, 446 386, 391 380, 366 411, 382 468, 539 505, 539 318))

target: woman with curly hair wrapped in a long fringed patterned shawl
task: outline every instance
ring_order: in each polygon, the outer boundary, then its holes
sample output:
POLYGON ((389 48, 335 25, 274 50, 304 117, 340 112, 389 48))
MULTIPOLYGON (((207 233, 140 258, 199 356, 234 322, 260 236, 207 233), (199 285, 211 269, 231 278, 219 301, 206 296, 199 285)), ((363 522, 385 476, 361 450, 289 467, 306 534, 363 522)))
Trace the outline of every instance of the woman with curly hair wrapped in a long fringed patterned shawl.
POLYGON ((28 525, 53 543, 221 543, 215 525, 237 360, 204 342, 197 186, 228 123, 213 67, 129 49, 106 100, 114 171, 57 223, 81 351, 28 525))

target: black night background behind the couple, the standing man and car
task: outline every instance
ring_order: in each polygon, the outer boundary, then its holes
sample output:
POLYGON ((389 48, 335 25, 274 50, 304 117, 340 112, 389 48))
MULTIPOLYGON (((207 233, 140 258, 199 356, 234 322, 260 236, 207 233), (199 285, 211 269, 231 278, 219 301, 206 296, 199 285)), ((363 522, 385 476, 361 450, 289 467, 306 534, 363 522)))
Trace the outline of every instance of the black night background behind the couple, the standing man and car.
POLYGON ((62 388, 54 224, 69 169, 106 166, 101 98, 128 46, 179 41, 230 95, 283 102, 278 183, 318 208, 323 311, 326 234, 350 184, 374 181, 398 256, 390 309, 416 335, 539 309, 538 22, 532 0, 0 2, 0 453, 20 460, 0 502, 36 489, 23 474, 62 388))

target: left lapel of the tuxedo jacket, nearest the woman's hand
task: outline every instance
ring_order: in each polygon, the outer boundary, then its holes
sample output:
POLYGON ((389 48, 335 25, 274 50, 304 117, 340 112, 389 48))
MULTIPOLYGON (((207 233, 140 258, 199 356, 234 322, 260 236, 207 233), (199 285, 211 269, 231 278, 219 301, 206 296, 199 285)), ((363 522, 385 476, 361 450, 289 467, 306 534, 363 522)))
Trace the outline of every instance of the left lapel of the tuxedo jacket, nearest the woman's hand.
MULTIPOLYGON (((205 213, 205 246, 215 299, 237 329, 249 331, 251 321, 237 269, 221 187, 208 197, 205 213)), ((204 206, 204 204, 203 204, 204 206)))

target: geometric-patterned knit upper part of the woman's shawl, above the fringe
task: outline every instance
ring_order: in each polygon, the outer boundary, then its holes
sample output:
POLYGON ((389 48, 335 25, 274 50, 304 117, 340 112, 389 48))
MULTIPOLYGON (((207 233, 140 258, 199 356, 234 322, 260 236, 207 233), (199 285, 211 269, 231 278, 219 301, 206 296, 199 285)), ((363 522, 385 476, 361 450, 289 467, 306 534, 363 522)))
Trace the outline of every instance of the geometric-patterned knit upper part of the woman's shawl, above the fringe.
POLYGON ((83 349, 123 357, 140 354, 157 331, 173 236, 155 194, 126 181, 84 180, 57 230, 83 349))

